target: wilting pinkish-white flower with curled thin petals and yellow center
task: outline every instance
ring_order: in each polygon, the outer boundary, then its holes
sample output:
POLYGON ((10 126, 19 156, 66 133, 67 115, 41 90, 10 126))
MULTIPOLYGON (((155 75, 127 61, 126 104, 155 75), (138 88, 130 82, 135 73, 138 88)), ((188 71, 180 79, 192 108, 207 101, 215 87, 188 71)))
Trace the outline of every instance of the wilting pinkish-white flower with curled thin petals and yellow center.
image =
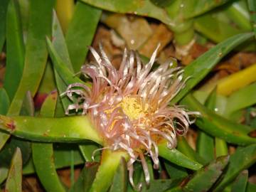
POLYGON ((104 139, 104 149, 127 151, 130 157, 127 162, 129 181, 134 188, 134 161, 140 159, 146 183, 149 183, 144 155, 151 156, 154 169, 158 169, 157 144, 166 139, 170 149, 176 147, 176 134, 186 134, 189 124, 193 123, 189 116, 198 114, 188 112, 182 106, 169 106, 186 80, 183 80, 181 68, 172 68, 173 63, 166 62, 151 70, 158 48, 146 65, 137 52, 125 49, 117 70, 102 46, 100 54, 90 47, 95 62, 83 65, 81 73, 91 78, 92 83, 73 83, 65 92, 74 102, 66 114, 72 110, 88 114, 104 139))

